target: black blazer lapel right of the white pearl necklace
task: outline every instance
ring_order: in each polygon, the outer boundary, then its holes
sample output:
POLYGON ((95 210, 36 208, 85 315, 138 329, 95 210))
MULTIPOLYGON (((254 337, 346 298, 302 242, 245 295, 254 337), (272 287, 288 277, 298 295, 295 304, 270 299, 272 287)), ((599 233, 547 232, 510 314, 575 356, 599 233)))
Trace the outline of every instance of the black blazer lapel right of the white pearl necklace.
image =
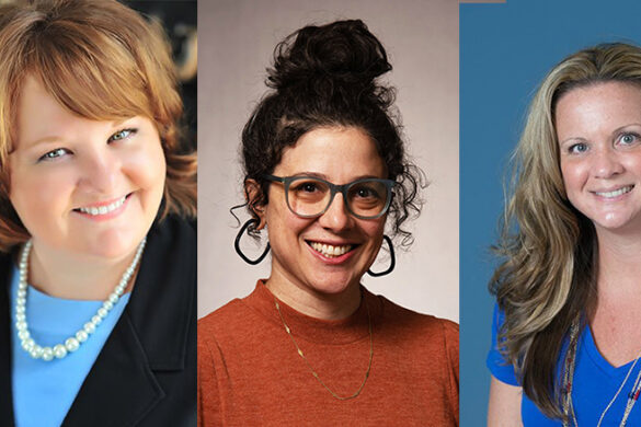
POLYGON ((157 376, 185 369, 190 324, 195 321, 194 241, 195 231, 171 218, 151 229, 129 302, 65 427, 136 425, 165 396, 157 376))

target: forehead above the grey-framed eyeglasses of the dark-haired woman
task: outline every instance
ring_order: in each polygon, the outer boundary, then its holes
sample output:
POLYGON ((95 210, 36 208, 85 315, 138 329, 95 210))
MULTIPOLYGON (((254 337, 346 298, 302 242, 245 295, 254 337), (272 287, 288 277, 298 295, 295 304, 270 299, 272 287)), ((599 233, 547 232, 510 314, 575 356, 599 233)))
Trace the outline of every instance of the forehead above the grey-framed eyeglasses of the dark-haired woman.
POLYGON ((318 173, 336 183, 359 176, 385 177, 376 145, 356 127, 322 127, 308 131, 285 149, 277 174, 318 173))

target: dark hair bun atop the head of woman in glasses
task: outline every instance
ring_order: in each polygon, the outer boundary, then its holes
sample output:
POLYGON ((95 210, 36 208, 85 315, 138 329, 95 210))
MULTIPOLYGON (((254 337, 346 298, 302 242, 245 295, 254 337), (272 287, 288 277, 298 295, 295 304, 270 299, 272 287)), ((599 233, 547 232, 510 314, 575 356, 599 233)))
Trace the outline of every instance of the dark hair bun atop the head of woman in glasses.
POLYGON ((364 88, 390 71, 380 42, 360 20, 306 26, 276 46, 267 85, 282 91, 313 80, 364 88))

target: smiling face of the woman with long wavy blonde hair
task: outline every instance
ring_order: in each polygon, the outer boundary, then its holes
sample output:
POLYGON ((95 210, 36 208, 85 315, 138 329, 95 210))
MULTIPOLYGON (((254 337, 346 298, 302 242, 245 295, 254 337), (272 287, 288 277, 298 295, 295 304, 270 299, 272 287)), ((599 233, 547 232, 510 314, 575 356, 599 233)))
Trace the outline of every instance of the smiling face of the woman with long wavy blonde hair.
POLYGON ((606 82, 573 89, 556 111, 563 183, 597 232, 641 231, 641 89, 606 82))

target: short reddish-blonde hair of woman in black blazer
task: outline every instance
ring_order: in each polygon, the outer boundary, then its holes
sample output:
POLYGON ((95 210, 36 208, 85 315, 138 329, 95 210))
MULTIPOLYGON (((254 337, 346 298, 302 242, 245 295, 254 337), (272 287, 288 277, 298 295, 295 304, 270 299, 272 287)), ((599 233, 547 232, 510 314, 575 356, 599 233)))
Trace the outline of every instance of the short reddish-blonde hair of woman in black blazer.
POLYGON ((0 250, 28 239, 9 199, 8 155, 23 83, 34 77, 60 105, 93 120, 151 119, 167 180, 160 218, 196 216, 196 154, 183 153, 169 43, 158 23, 115 0, 35 0, 0 5, 0 250))

